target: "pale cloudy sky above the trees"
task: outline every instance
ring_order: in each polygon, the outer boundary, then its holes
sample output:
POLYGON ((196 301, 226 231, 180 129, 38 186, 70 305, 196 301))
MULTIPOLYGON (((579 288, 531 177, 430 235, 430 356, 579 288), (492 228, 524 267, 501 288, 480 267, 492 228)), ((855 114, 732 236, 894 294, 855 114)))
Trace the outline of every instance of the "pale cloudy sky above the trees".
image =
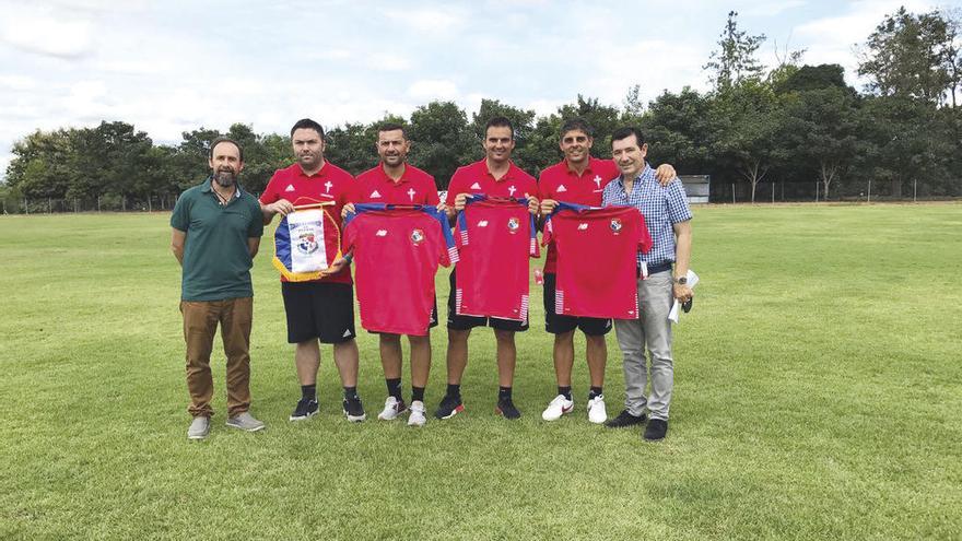
POLYGON ((0 175, 24 136, 102 120, 173 144, 200 127, 286 133, 434 99, 470 118, 482 98, 545 115, 578 94, 621 105, 635 84, 645 102, 704 91, 730 10, 766 35, 766 66, 805 49, 860 86, 857 44, 903 4, 962 0, 0 0, 0 175))

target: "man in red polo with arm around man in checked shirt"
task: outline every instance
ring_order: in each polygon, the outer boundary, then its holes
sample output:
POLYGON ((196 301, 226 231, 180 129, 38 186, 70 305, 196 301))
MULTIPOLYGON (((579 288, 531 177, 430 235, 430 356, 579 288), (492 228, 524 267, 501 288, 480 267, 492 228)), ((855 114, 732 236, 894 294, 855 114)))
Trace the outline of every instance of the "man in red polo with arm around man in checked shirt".
MULTIPOLYGON (((617 178, 620 170, 614 161, 591 156, 593 143, 593 130, 586 121, 573 118, 564 122, 559 143, 564 160, 542 170, 538 178, 538 189, 544 198, 541 201, 543 215, 551 214, 559 201, 601 207, 605 186, 617 178)), ((662 185, 667 185, 676 177, 674 167, 662 164, 656 175, 662 185)), ((554 244, 550 244, 544 262, 544 327, 548 332, 554 334, 553 357, 558 396, 541 413, 541 419, 555 421, 574 409, 571 374, 575 357, 575 329, 580 329, 585 333, 585 357, 588 361, 588 374, 591 380, 588 391, 588 420, 593 423, 603 423, 608 419, 602 395, 605 365, 608 360, 605 334, 611 330, 611 320, 554 313, 556 263, 558 250, 554 244)))

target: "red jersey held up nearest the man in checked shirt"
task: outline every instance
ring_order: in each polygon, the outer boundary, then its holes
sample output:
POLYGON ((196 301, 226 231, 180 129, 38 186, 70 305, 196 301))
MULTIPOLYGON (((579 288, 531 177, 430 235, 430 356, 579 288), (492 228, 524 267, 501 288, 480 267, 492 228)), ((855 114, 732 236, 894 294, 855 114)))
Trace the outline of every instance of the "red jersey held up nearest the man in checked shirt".
POLYGON ((545 222, 542 242, 558 247, 555 314, 637 319, 637 255, 652 249, 637 209, 562 203, 545 222))

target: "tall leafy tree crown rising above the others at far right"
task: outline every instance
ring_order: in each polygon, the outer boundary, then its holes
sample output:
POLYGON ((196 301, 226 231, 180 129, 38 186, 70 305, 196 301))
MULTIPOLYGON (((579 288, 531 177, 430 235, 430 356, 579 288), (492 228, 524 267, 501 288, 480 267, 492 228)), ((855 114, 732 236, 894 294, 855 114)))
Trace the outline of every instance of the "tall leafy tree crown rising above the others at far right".
POLYGON ((954 105, 960 66, 954 45, 957 22, 939 10, 916 15, 904 7, 885 15, 864 44, 858 74, 868 92, 954 105))

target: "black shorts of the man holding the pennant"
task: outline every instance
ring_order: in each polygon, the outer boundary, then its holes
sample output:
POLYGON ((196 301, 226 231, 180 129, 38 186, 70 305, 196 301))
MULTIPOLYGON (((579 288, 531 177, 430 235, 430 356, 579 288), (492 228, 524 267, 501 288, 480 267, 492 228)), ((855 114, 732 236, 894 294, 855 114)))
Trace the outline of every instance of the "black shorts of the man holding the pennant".
POLYGON ((312 339, 338 344, 354 338, 354 287, 322 282, 281 282, 288 343, 312 339))

